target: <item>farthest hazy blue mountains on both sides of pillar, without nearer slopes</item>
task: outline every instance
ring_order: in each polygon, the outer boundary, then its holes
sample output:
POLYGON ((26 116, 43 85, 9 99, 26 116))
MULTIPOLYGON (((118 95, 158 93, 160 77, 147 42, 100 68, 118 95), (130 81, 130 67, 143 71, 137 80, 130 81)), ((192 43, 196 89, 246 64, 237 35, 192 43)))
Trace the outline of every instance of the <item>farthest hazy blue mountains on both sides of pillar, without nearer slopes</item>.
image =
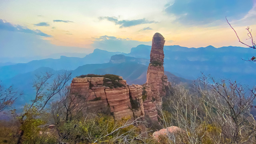
MULTIPOLYGON (((93 53, 84 58, 65 57, 59 59, 34 60, 26 64, 14 64, 0 67, 0 80, 9 79, 17 74, 32 72, 40 67, 49 67, 54 70, 75 70, 84 64, 100 64, 110 61, 111 63, 136 62, 148 66, 151 46, 139 45, 132 48, 129 54, 121 52, 108 52, 95 49, 93 53), (125 58, 125 59, 124 59, 125 58)), ((211 74, 215 78, 231 78, 242 84, 255 85, 256 62, 246 62, 241 58, 248 59, 256 55, 252 48, 227 46, 214 48, 186 48, 182 46, 164 46, 164 68, 176 76, 194 80, 201 72, 211 74)), ((102 70, 105 68, 100 65, 102 70)), ((93 72, 93 71, 92 71, 93 72)), ((92 73, 90 72, 90 73, 92 73)), ((115 72, 115 71, 114 71, 115 72)), ((134 82, 135 83, 135 82, 134 82)))

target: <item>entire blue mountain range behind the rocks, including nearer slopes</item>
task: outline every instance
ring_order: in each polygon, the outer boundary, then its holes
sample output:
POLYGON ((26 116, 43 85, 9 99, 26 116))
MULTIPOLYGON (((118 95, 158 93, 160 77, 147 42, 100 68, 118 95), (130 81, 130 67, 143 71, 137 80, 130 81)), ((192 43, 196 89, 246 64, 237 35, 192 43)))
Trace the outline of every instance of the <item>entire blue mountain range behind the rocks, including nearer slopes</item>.
MULTIPOLYGON (((95 49, 84 58, 61 56, 59 59, 33 60, 23 64, 0 64, 2 84, 13 85, 24 91, 18 103, 29 102, 34 94, 32 82, 35 74, 72 70, 72 78, 82 74, 116 74, 123 76, 128 84, 144 84, 149 64, 151 46, 139 45, 129 54, 95 49), (111 58, 111 59, 110 59, 111 58)), ((256 56, 256 50, 242 47, 186 48, 164 46, 164 69, 172 83, 191 87, 203 72, 216 79, 231 79, 253 86, 256 83, 256 62, 246 62, 256 56)), ((71 82, 71 81, 70 81, 71 82)))

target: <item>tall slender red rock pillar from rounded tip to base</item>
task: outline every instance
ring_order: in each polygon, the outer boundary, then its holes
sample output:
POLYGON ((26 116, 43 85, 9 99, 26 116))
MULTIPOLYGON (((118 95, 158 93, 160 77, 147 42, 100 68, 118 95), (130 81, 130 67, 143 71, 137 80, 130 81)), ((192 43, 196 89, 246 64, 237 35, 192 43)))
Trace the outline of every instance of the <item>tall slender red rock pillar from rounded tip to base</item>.
POLYGON ((164 37, 156 33, 152 39, 152 48, 150 52, 150 64, 147 71, 146 92, 147 99, 144 101, 145 115, 151 120, 157 120, 156 107, 161 106, 161 98, 165 96, 167 85, 167 76, 164 75, 164 37))

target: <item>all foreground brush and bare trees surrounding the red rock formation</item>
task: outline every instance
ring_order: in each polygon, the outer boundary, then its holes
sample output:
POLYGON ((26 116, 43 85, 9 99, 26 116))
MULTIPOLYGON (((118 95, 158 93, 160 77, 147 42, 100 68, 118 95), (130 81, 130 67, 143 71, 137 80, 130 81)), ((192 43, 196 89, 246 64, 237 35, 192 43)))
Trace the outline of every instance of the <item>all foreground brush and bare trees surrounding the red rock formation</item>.
MULTIPOLYGON (((119 78, 107 76, 109 80, 119 78)), ((204 75, 193 89, 166 86, 162 106, 157 108, 158 122, 153 122, 148 116, 146 121, 114 120, 104 110, 84 113, 84 99, 79 94, 70 94, 70 87, 66 86, 69 79, 68 73, 38 76, 32 103, 26 104, 21 114, 12 110, 12 120, 0 122, 0 143, 253 144, 256 141, 255 87, 244 87, 230 80, 216 81, 204 75), (44 108, 56 92, 60 100, 52 102, 49 109, 44 108), (169 126, 177 126, 181 131, 160 135, 158 139, 152 137, 154 131, 169 126)), ((142 94, 146 96, 145 89, 142 94)), ((138 103, 132 99, 130 102, 132 108, 139 108, 138 103)))

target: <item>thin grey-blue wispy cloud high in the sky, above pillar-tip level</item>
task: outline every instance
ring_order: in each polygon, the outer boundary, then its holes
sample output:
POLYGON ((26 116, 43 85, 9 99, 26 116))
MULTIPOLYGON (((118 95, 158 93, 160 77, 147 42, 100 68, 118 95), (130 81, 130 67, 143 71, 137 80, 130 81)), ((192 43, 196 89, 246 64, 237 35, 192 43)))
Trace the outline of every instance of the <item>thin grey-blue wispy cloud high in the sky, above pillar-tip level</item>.
POLYGON ((149 21, 149 20, 146 20, 145 18, 138 19, 138 20, 118 20, 118 18, 116 17, 109 17, 109 16, 100 16, 99 20, 108 20, 110 22, 114 22, 116 25, 120 25, 119 28, 136 26, 139 24, 157 23, 156 21, 149 21))

